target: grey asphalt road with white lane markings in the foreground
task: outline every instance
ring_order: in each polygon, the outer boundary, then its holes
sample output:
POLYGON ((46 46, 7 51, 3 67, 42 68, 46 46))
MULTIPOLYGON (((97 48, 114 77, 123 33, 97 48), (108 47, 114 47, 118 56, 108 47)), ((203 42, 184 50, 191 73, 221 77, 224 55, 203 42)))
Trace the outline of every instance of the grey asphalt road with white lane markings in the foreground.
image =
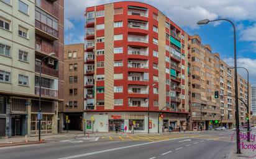
MULTIPOLYGON (((220 135, 225 132, 216 132, 220 135)), ((226 132, 229 137, 230 132, 226 132)), ((209 135, 209 134, 208 134, 209 135)), ((85 140, 52 142, 0 148, 1 159, 221 159, 227 158, 231 142, 208 137, 170 140, 85 140)))

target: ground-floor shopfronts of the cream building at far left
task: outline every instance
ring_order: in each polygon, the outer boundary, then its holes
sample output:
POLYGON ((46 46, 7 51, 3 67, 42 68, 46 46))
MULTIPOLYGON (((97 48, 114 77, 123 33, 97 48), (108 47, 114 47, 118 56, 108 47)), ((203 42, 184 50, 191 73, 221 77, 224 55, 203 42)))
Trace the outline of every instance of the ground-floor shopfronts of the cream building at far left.
MULTIPOLYGON (((42 100, 42 134, 57 133, 58 101, 42 100)), ((0 95, 0 136, 39 134, 39 99, 16 95, 0 95)))

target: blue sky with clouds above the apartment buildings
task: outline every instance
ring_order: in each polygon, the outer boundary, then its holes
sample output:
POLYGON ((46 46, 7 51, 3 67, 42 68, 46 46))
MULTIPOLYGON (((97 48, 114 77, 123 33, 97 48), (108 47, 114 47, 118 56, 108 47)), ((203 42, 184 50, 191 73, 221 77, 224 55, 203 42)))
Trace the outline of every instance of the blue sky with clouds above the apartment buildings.
MULTIPOLYGON (((85 8, 116 2, 116 0, 65 0, 65 44, 68 44, 68 24, 70 44, 84 42, 85 8), (68 19, 70 22, 68 23, 68 19)), ((214 53, 233 66, 233 30, 228 22, 215 22, 198 26, 201 19, 227 18, 237 27, 237 66, 247 67, 250 83, 256 84, 256 1, 254 0, 142 0, 157 7, 173 22, 190 35, 200 35, 203 44, 209 44, 214 53)), ((243 70, 239 74, 246 77, 243 70)))

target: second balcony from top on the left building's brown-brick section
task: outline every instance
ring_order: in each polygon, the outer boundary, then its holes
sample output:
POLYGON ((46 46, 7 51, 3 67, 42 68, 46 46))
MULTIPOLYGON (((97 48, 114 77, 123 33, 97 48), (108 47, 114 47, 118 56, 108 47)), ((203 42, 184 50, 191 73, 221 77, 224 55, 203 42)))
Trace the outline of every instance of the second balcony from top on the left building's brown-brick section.
POLYGON ((35 33, 49 40, 58 40, 58 30, 48 27, 39 20, 35 20, 35 33))

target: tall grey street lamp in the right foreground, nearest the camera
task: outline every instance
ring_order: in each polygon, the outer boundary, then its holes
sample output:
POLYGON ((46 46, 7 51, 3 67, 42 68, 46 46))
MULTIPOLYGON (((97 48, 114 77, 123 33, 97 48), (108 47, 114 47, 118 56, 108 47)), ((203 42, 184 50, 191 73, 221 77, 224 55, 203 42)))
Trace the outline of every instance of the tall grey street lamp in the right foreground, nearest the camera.
POLYGON ((216 19, 216 20, 199 20, 197 22, 198 25, 205 25, 209 22, 216 22, 220 20, 225 20, 229 23, 231 23, 233 29, 234 29, 234 69, 235 69, 235 126, 236 126, 236 137, 237 137, 237 153, 241 153, 240 150, 240 139, 239 139, 239 108, 238 108, 238 90, 237 90, 237 51, 236 51, 236 40, 235 40, 235 25, 231 20, 228 19, 216 19))

